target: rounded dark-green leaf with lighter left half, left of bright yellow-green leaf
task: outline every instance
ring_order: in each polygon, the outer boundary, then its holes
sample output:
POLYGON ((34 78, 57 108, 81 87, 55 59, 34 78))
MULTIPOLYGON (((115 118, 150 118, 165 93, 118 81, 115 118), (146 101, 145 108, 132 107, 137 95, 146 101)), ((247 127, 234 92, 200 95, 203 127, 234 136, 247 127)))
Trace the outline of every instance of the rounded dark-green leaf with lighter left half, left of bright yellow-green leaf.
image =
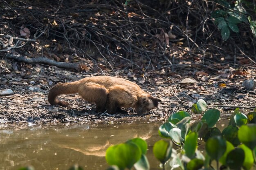
POLYGON ((226 141, 220 136, 211 137, 208 139, 205 146, 207 154, 211 157, 211 159, 215 159, 216 161, 222 157, 226 148, 226 141))

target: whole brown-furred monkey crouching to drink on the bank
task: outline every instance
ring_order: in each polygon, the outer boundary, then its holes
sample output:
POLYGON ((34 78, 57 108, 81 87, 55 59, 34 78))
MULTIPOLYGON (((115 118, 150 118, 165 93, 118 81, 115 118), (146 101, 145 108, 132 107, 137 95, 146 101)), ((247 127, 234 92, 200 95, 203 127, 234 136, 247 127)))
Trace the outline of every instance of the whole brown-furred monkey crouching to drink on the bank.
POLYGON ((67 107, 67 102, 59 101, 56 97, 73 93, 95 103, 97 111, 107 109, 110 114, 114 114, 117 108, 132 107, 137 114, 142 115, 156 108, 159 102, 159 99, 141 90, 137 84, 110 76, 86 77, 75 82, 57 84, 49 91, 48 101, 51 105, 67 107))

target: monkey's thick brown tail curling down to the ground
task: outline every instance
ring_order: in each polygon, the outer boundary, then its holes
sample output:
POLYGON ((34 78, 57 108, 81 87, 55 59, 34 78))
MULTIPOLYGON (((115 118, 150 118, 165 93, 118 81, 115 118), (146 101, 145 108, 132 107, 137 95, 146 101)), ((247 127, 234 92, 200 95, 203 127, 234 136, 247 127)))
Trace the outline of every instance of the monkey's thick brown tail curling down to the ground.
POLYGON ((51 105, 60 105, 63 107, 67 107, 68 103, 59 101, 56 99, 58 95, 64 95, 64 94, 74 94, 78 92, 79 83, 76 82, 70 82, 70 83, 61 83, 54 86, 48 94, 48 101, 51 105))

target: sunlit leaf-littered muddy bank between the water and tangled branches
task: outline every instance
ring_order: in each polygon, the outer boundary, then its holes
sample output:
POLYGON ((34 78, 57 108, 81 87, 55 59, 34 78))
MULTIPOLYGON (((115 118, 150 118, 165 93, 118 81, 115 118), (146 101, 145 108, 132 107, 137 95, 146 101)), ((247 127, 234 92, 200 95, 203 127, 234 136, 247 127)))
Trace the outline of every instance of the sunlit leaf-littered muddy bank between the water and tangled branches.
MULTIPOLYGON (((25 64, 22 71, 7 71, 8 69, 2 73, 2 83, 4 80, 8 82, 8 89, 13 90, 13 93, 0 97, 1 123, 74 121, 111 123, 112 121, 132 121, 135 119, 159 121, 168 118, 169 115, 179 110, 192 113, 191 106, 198 99, 204 99, 208 105, 227 105, 220 107, 220 110, 225 111, 234 110, 232 106, 254 108, 256 105, 256 93, 242 89, 242 82, 256 74, 254 69, 249 68, 229 68, 209 74, 208 68, 190 65, 182 67, 178 73, 166 73, 164 69, 149 72, 146 78, 129 72, 129 70, 119 75, 106 72, 107 75, 123 77, 136 82, 151 95, 162 99, 163 102, 159 104, 158 108, 151 110, 148 115, 142 117, 136 115, 132 109, 124 109, 124 113, 115 115, 97 113, 95 106, 83 101, 79 95, 61 95, 59 97, 70 103, 68 108, 61 106, 49 108, 47 95, 49 89, 56 83, 75 81, 83 77, 101 75, 100 73, 79 73, 39 64, 25 64), (182 83, 184 77, 192 79, 185 79, 187 83, 182 83), (233 78, 230 79, 229 77, 233 78)), ((0 87, 4 89, 6 85, 1 84, 0 87)), ((208 108, 213 107, 208 106, 208 108)), ((244 111, 249 110, 245 108, 244 111)), ((228 116, 229 113, 231 112, 222 112, 222 117, 228 116)), ((200 115, 193 117, 196 119, 198 116, 200 115)))

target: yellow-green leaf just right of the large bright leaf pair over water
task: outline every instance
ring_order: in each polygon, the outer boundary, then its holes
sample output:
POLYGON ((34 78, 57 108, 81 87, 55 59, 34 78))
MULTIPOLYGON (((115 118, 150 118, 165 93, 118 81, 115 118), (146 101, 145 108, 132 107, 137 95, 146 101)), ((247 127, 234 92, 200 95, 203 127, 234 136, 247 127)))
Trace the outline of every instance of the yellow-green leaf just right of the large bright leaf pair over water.
POLYGON ((155 157, 163 164, 170 159, 171 152, 172 147, 170 142, 159 140, 153 146, 153 153, 155 157))

